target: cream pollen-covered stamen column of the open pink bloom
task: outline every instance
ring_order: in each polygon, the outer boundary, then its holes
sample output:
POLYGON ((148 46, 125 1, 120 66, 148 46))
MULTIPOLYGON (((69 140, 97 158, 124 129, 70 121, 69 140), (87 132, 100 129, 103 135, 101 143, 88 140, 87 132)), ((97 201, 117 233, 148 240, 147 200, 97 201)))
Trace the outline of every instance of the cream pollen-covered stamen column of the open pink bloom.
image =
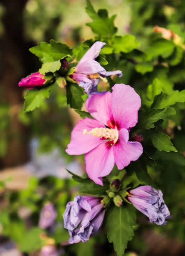
POLYGON ((84 129, 83 134, 91 134, 94 137, 113 140, 114 144, 117 142, 119 138, 119 132, 117 130, 117 127, 115 129, 109 129, 109 128, 103 128, 103 127, 93 128, 89 133, 87 132, 87 129, 84 129))

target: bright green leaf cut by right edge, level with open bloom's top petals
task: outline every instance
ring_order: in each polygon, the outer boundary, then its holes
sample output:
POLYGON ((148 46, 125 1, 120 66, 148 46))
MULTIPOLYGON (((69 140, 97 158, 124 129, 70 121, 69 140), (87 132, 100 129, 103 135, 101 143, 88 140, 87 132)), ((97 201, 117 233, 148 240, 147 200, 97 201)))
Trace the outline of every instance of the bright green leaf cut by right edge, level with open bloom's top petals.
POLYGON ((154 103, 152 105, 153 108, 167 108, 174 105, 177 102, 185 102, 185 90, 173 91, 169 95, 160 94, 155 97, 154 103))

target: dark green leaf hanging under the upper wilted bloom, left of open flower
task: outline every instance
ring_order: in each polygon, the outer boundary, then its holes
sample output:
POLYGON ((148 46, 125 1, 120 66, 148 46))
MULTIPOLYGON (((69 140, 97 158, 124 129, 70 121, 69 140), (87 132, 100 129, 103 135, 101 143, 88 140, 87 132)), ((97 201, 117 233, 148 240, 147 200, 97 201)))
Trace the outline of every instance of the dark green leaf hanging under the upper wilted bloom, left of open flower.
POLYGON ((68 83, 66 85, 67 104, 69 104, 71 108, 82 108, 84 103, 82 95, 84 95, 83 89, 78 84, 68 83))

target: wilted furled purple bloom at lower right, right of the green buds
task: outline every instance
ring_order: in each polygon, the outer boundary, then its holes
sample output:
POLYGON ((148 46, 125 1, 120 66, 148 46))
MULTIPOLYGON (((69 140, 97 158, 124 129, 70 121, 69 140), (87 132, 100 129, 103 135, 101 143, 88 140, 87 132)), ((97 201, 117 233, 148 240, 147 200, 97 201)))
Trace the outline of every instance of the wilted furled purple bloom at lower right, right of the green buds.
POLYGON ((165 205, 160 190, 151 186, 140 186, 129 191, 127 199, 132 202, 137 210, 147 215, 150 222, 157 225, 165 225, 170 216, 168 207, 165 205))

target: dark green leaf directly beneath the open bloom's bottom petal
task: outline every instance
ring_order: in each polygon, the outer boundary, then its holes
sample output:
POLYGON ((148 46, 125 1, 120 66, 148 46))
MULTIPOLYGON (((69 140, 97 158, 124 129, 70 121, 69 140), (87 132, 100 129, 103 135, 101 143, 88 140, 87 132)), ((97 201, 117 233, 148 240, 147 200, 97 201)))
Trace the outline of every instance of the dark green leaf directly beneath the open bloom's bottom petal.
POLYGON ((72 175, 73 180, 82 184, 82 187, 80 187, 79 189, 79 192, 81 194, 101 196, 105 193, 107 189, 109 189, 109 182, 106 180, 104 181, 104 186, 102 187, 100 185, 95 184, 89 178, 83 179, 70 171, 68 172, 72 175))

